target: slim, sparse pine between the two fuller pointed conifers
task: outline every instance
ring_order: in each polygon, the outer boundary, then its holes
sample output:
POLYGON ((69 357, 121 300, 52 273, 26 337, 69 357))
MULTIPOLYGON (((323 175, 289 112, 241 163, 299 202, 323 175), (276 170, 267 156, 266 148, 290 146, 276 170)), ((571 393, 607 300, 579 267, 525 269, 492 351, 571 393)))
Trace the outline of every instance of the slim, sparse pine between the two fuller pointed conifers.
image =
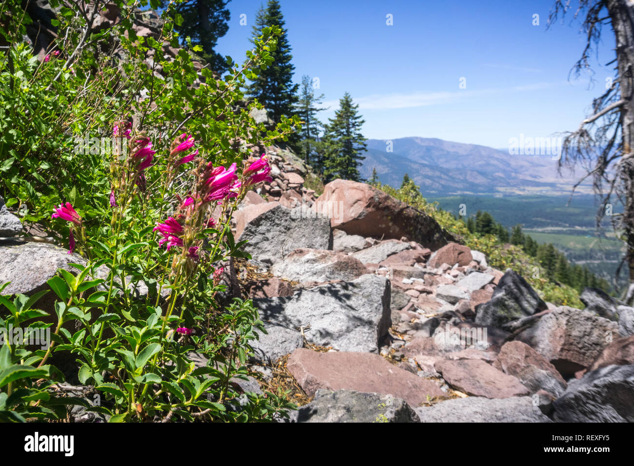
POLYGON ((297 115, 304 121, 301 129, 302 141, 298 145, 298 152, 304 157, 306 164, 313 166, 318 172, 323 171, 323 160, 321 160, 318 151, 320 148, 319 133, 323 124, 317 118, 317 112, 326 109, 318 108, 317 105, 321 103, 323 97, 323 94, 315 96, 311 77, 303 75, 296 107, 297 115))

